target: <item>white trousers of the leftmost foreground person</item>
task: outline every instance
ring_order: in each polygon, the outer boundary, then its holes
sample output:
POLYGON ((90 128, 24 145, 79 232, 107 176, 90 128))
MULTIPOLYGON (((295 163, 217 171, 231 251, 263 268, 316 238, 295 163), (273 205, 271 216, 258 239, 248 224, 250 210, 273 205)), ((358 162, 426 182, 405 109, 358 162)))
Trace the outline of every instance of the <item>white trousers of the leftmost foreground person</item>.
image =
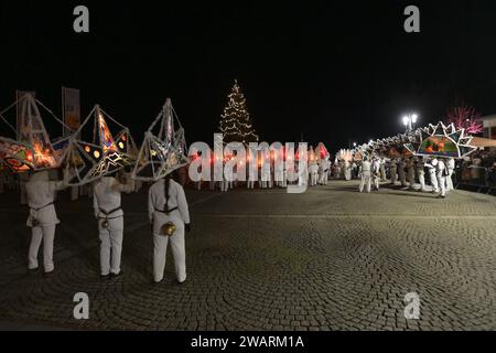
POLYGON ((55 225, 31 228, 31 244, 30 244, 30 252, 28 255, 29 269, 36 269, 39 267, 37 253, 40 250, 40 246, 43 240, 43 267, 45 269, 45 272, 51 272, 54 270, 55 268, 53 264, 54 238, 55 238, 55 225))

